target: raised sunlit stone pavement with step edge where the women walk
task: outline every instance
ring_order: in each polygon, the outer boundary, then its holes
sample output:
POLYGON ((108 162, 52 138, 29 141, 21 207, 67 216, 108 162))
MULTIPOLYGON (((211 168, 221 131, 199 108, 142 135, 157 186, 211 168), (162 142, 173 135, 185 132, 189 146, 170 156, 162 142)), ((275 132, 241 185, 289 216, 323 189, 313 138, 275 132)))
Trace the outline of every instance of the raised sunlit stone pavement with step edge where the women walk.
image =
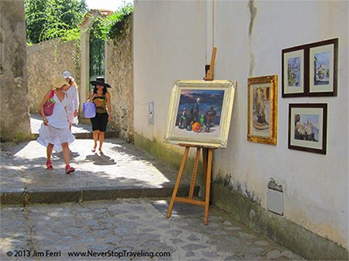
MULTIPOLYGON (((93 141, 86 139, 70 145, 76 171, 66 175, 61 153, 53 153, 54 170, 47 171, 43 145, 1 143, 1 203, 171 196, 178 173, 174 168, 121 139, 105 139, 103 155, 91 152, 92 146, 93 141)), ((189 184, 188 176, 184 177, 179 193, 186 193, 189 184)))

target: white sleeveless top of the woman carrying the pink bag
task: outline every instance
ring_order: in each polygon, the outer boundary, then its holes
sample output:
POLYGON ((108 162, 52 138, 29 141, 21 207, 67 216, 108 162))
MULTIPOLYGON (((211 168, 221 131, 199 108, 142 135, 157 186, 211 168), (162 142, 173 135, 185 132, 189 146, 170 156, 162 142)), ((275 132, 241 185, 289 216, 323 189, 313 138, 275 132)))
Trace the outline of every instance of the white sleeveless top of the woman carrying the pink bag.
POLYGON ((64 95, 62 101, 59 100, 56 93, 53 96, 54 104, 53 113, 51 116, 47 116, 48 125, 57 129, 69 129, 68 116, 65 107, 68 105, 68 98, 64 95))

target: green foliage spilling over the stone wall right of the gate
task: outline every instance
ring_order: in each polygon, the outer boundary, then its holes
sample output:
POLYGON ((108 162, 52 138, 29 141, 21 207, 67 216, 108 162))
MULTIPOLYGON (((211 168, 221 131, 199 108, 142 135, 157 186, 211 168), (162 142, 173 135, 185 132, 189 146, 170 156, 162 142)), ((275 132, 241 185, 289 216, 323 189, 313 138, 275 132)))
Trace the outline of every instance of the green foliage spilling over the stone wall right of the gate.
POLYGON ((90 38, 101 40, 117 38, 124 32, 126 19, 132 13, 133 3, 124 3, 124 5, 112 15, 106 18, 98 17, 91 27, 90 38))

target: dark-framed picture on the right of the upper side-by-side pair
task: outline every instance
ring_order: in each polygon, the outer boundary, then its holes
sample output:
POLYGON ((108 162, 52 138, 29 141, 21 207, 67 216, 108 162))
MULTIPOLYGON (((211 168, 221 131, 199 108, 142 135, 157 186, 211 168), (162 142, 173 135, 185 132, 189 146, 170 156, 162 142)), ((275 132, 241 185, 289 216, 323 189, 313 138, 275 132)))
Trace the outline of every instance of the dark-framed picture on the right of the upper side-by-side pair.
POLYGON ((337 95, 338 38, 309 45, 309 96, 337 95))

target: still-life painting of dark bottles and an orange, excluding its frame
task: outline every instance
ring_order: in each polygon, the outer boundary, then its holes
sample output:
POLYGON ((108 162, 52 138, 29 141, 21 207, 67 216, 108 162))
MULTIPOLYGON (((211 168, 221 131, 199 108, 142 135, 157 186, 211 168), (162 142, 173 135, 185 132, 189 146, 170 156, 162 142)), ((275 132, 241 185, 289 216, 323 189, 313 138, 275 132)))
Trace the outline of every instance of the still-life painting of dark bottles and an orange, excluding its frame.
POLYGON ((218 136, 224 90, 182 89, 174 132, 186 136, 218 136))

